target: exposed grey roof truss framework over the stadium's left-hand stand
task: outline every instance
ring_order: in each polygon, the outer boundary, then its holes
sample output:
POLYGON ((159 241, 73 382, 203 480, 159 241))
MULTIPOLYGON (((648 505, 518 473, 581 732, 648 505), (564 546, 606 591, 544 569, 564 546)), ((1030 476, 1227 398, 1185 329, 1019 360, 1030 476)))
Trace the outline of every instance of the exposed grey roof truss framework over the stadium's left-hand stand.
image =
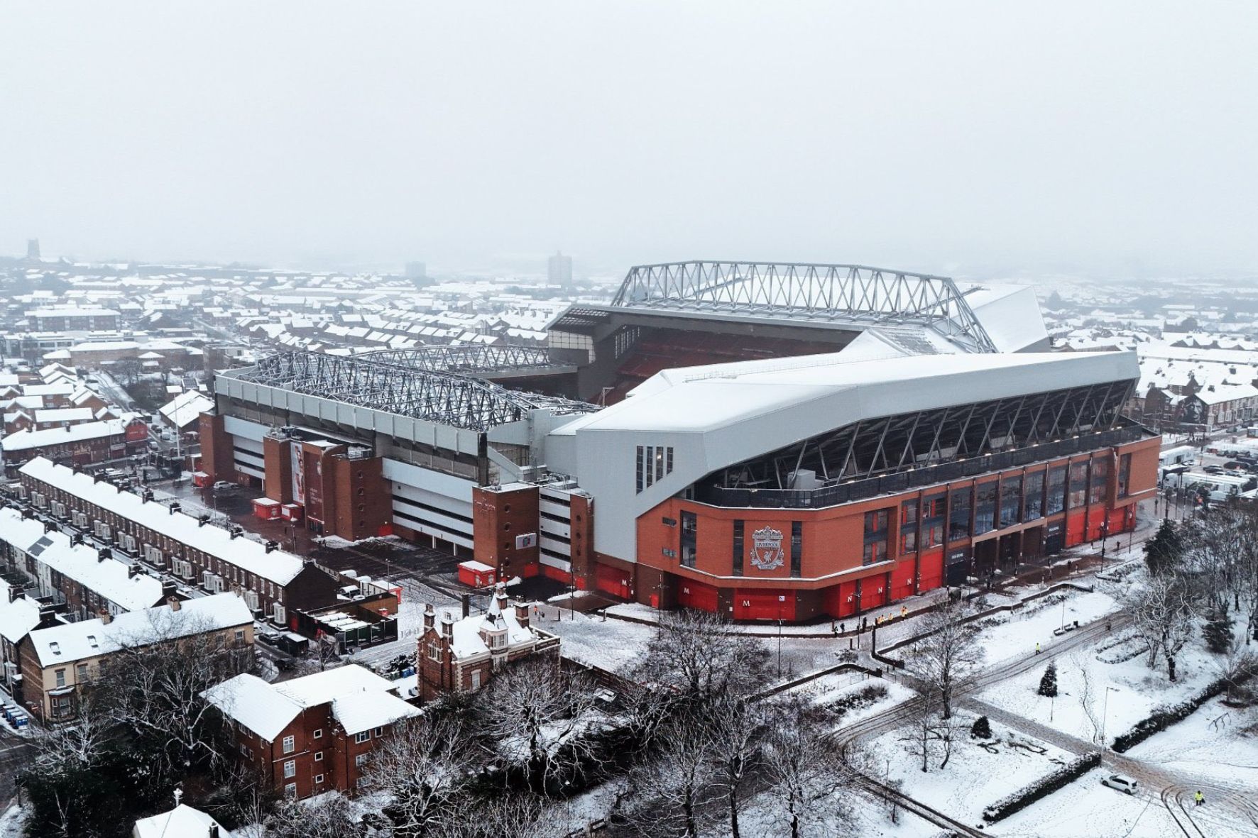
POLYGON ((518 393, 470 375, 438 372, 377 360, 289 351, 258 362, 247 376, 257 384, 304 395, 425 419, 455 428, 488 430, 523 419, 528 410, 587 413, 594 405, 518 393))

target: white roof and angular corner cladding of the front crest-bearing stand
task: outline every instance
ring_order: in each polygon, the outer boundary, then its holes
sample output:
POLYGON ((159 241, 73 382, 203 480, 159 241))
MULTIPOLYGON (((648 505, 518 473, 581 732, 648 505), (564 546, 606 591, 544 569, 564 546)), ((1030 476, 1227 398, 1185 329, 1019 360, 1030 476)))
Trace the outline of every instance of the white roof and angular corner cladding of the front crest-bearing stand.
POLYGON ((624 515, 595 549, 637 555, 633 521, 704 474, 864 419, 1137 380, 1135 352, 858 356, 847 351, 664 370, 629 396, 546 438, 546 462, 624 515), (673 449, 673 469, 635 492, 637 445, 673 449))

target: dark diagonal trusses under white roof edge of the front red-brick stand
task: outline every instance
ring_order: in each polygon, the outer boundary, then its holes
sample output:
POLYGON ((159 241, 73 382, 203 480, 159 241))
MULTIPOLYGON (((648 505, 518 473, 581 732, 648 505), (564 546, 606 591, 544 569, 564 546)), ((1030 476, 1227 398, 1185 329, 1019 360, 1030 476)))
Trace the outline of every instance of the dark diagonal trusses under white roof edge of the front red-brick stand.
POLYGON ((1050 443, 1117 425, 1135 381, 1112 381, 867 419, 718 473, 727 488, 790 488, 790 474, 864 479, 1050 443))

